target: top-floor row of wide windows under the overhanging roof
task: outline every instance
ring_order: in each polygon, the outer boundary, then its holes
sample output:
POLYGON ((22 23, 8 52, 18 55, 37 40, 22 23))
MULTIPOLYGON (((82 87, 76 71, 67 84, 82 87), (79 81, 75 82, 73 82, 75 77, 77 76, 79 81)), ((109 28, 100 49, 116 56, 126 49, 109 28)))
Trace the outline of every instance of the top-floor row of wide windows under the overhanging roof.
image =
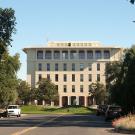
MULTIPOLYGON (((62 53, 60 51, 54 51, 54 53, 52 53, 52 51, 45 51, 45 55, 44 55, 44 51, 43 50, 38 50, 37 51, 37 59, 93 59, 94 58, 94 52, 93 51, 87 51, 86 55, 85 55, 85 51, 80 50, 79 52, 77 51, 70 51, 70 55, 68 51, 62 51, 62 53), (53 55, 52 55, 53 54, 53 55), (70 57, 69 57, 70 56, 70 57)), ((102 51, 97 50, 95 51, 95 58, 96 59, 101 59, 102 58, 102 51)), ((109 59, 110 58, 110 51, 109 50, 104 50, 103 51, 103 58, 104 59, 109 59)))

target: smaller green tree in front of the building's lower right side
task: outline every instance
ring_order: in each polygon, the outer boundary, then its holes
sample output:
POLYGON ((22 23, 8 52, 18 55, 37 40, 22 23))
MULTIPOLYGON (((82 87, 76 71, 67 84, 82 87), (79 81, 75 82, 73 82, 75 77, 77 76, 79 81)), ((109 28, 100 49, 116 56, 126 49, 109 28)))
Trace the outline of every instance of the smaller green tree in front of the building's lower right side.
POLYGON ((106 90, 105 86, 99 82, 92 83, 90 85, 90 93, 93 98, 93 103, 101 104, 105 101, 106 98, 106 90))

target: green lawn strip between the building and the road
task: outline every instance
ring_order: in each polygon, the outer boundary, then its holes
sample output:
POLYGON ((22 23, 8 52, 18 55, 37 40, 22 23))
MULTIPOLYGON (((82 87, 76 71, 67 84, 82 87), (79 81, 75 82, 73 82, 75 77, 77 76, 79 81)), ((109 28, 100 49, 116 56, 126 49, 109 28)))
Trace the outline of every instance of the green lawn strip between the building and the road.
POLYGON ((87 107, 44 107, 27 105, 21 107, 22 113, 27 114, 93 114, 94 110, 87 107))

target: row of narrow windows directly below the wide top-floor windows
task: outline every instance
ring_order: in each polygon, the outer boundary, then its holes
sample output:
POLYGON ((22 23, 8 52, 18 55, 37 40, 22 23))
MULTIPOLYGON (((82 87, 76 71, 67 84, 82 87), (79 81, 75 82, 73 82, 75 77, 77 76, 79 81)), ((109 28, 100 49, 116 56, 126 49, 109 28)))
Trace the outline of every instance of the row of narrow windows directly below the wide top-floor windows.
MULTIPOLYGON (((59 71, 59 64, 58 63, 55 63, 55 71, 59 71)), ((46 70, 47 71, 50 71, 51 69, 51 64, 50 63, 47 63, 46 64, 46 70)), ((72 63, 72 71, 76 71, 76 65, 75 63, 72 63)), ((84 63, 80 63, 80 71, 83 71, 84 70, 84 63)), ((92 70, 92 64, 89 63, 88 64, 88 70, 91 71, 92 70)), ((42 71, 42 63, 39 63, 38 64, 38 71, 42 71)), ((64 63, 63 64, 63 71, 67 71, 67 63, 64 63)), ((97 63, 97 71, 100 71, 100 63, 97 63)))

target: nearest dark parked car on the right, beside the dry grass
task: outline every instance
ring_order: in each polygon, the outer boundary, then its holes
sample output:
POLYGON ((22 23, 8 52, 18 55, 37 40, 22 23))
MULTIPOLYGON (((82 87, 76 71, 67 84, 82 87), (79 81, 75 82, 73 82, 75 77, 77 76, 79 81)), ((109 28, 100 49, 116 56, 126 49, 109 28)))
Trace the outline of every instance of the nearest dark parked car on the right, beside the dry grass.
POLYGON ((122 108, 120 106, 109 105, 105 113, 105 120, 118 118, 121 115, 122 115, 122 108))

